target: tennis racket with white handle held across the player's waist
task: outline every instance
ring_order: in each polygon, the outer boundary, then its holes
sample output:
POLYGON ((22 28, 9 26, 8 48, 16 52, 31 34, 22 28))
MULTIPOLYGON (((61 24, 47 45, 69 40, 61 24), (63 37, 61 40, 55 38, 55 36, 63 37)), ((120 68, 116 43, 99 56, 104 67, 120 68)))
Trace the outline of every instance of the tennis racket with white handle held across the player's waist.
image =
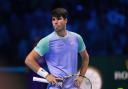
MULTIPOLYGON (((91 81, 86 76, 82 76, 83 81, 82 81, 81 85, 79 87, 77 87, 75 85, 75 78, 78 77, 78 76, 79 76, 78 74, 73 74, 73 75, 70 75, 70 76, 66 76, 66 77, 63 78, 62 81, 59 81, 56 84, 56 86, 59 86, 61 89, 65 89, 66 88, 65 85, 71 84, 70 87, 72 87, 73 89, 92 89, 91 81)), ((39 78, 39 77, 33 77, 33 81, 49 83, 46 79, 39 78)))

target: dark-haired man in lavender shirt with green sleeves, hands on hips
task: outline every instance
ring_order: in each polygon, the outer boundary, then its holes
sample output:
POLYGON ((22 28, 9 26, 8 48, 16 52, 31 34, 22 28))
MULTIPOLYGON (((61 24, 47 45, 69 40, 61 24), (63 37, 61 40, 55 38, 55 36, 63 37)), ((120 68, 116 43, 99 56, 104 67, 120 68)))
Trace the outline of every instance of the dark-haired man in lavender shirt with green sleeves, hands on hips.
MULTIPOLYGON (((52 25, 54 32, 42 38, 36 47, 28 54, 25 63, 41 77, 46 78, 50 84, 48 89, 60 89, 55 84, 68 73, 77 73, 78 52, 83 59, 80 68, 80 76, 75 79, 76 86, 79 86, 89 63, 89 56, 80 35, 66 29, 68 12, 64 8, 56 8, 52 11, 52 25), (37 60, 44 56, 50 73, 45 71, 37 63, 37 60)), ((65 86, 64 89, 72 89, 65 86)), ((74 89, 74 88, 73 88, 74 89)))

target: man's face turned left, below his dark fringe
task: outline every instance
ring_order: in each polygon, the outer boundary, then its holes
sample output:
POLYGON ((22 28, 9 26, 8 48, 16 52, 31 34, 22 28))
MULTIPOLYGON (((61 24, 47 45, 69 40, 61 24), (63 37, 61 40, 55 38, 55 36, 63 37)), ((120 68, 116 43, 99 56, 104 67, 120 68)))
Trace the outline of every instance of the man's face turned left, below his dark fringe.
POLYGON ((61 31, 66 29, 67 19, 61 17, 52 17, 52 25, 55 31, 61 31))

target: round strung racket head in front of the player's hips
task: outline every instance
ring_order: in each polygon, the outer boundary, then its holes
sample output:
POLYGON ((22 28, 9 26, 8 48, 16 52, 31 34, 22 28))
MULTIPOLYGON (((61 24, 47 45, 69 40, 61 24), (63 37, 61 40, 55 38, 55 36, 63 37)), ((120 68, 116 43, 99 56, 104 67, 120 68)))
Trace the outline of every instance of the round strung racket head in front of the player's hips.
POLYGON ((65 77, 61 86, 62 89, 92 89, 92 83, 86 76, 81 76, 83 77, 82 83, 77 87, 75 85, 77 77, 79 77, 77 74, 65 77))

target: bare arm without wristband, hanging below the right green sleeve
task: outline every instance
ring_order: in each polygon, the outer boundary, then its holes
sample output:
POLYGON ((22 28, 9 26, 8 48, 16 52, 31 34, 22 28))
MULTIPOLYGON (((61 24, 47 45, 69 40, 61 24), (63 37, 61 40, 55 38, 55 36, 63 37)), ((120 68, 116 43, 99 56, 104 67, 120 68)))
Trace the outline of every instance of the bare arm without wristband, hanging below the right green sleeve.
POLYGON ((89 55, 87 53, 87 50, 82 51, 80 54, 83 60, 82 66, 80 68, 80 75, 84 76, 87 71, 88 64, 89 64, 89 55))

